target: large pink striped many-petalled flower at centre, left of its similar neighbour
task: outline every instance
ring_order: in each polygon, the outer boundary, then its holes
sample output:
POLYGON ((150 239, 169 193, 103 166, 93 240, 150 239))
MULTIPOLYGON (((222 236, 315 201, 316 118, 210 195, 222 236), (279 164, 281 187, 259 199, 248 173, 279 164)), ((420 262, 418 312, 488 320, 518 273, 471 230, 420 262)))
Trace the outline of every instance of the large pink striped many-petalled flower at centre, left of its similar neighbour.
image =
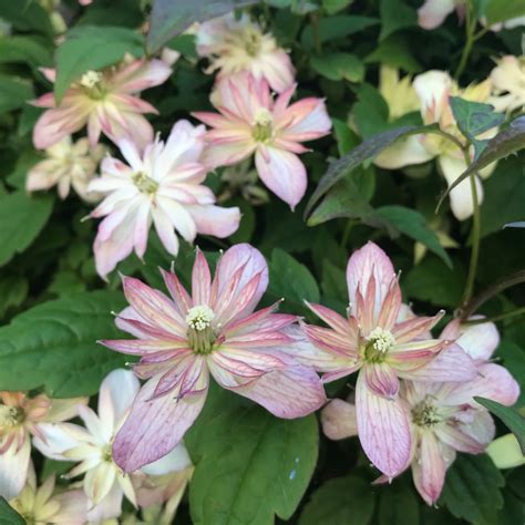
POLYGON ((249 245, 229 248, 212 281, 197 251, 192 295, 173 272, 163 271, 171 298, 137 279, 123 279, 131 307, 117 325, 137 340, 101 341, 141 356, 135 373, 148 379, 117 433, 113 456, 126 472, 168 453, 203 409, 209 374, 223 388, 262 405, 278 418, 303 416, 321 406, 325 391, 313 370, 282 350, 295 316, 254 312, 268 286, 262 255, 249 245))

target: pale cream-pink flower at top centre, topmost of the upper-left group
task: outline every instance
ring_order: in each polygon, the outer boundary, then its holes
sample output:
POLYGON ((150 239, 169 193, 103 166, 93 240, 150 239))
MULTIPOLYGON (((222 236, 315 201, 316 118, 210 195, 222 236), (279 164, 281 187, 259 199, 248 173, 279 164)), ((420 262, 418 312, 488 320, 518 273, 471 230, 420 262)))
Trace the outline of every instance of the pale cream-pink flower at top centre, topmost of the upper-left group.
POLYGON ((206 73, 219 70, 217 80, 248 72, 265 79, 277 93, 294 84, 295 70, 287 52, 247 13, 239 19, 229 13, 199 24, 196 44, 197 53, 212 62, 206 73))

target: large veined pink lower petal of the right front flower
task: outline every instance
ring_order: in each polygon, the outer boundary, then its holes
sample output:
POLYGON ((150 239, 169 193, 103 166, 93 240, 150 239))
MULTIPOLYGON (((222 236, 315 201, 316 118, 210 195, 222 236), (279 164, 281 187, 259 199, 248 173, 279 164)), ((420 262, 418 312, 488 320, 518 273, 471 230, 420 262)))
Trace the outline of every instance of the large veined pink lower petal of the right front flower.
POLYGON ((399 398, 375 395, 358 375, 356 409, 359 439, 369 460, 388 477, 400 474, 410 461, 412 435, 409 414, 399 398))

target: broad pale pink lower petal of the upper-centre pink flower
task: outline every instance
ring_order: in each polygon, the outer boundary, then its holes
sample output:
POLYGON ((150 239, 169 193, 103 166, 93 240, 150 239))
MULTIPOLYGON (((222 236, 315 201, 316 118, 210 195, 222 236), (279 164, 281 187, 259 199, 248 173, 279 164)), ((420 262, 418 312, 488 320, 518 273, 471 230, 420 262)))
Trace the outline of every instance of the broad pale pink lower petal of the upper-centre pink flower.
POLYGON ((258 150, 255 154, 257 173, 265 185, 294 210, 308 184, 305 165, 294 153, 272 146, 265 146, 265 153, 258 150))

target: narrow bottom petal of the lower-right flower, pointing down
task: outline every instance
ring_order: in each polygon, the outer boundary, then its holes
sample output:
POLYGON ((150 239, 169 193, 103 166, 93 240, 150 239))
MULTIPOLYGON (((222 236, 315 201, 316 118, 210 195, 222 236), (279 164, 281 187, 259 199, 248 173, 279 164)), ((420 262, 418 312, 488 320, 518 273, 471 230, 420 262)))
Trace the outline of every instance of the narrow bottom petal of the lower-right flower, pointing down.
POLYGON ((432 432, 424 432, 416 459, 412 462, 412 476, 415 488, 428 505, 433 505, 440 497, 445 474, 446 464, 440 443, 432 432))

